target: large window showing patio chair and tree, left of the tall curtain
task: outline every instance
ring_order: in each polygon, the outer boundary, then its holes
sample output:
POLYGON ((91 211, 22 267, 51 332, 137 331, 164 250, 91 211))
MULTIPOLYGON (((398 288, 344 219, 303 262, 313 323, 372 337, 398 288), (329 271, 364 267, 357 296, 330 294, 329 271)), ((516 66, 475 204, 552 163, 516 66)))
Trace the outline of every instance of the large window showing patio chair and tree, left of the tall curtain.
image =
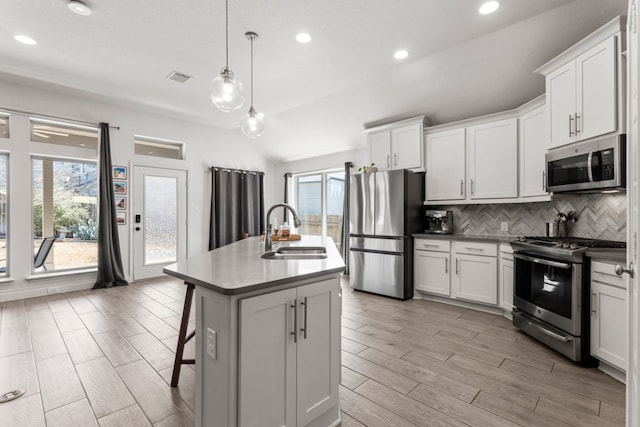
POLYGON ((95 162, 33 158, 33 250, 56 237, 40 270, 94 267, 98 261, 95 162))

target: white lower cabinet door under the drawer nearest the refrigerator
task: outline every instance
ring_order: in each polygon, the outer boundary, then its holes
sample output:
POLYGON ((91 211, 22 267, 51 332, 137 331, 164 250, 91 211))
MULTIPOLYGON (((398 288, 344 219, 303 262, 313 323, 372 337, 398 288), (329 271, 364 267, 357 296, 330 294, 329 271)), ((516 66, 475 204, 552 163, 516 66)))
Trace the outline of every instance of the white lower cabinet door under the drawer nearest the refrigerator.
POLYGON ((449 252, 414 251, 413 278, 418 291, 449 296, 451 294, 449 252))

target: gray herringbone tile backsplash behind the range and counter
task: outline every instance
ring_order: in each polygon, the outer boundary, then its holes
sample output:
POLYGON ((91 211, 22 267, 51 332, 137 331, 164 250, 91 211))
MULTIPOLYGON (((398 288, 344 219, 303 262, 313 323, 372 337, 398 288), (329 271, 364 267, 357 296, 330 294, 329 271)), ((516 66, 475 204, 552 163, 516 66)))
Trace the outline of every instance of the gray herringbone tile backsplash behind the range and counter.
POLYGON ((624 194, 589 194, 551 202, 456 205, 442 209, 453 211, 454 232, 544 236, 545 223, 556 219, 558 212, 575 211, 578 220, 567 225, 570 237, 627 240, 627 200, 624 194), (500 231, 501 222, 509 231, 500 231))

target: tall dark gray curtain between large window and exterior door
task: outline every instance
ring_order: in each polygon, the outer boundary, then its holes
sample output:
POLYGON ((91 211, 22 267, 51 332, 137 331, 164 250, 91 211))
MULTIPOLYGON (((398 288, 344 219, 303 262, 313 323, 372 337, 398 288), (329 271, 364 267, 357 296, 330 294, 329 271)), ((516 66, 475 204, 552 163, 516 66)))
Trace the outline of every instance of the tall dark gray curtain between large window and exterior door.
POLYGON ((111 179, 111 142, 109 124, 100 123, 98 206, 98 277, 93 289, 128 285, 124 279, 120 238, 116 223, 116 204, 111 179))

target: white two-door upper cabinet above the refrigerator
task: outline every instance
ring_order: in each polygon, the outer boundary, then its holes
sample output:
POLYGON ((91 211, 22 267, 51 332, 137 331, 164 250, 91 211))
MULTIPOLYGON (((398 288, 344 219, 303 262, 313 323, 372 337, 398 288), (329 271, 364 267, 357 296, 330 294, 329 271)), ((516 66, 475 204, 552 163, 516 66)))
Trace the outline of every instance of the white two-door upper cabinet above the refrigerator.
POLYGON ((424 169, 424 116, 368 129, 371 163, 379 170, 424 169))

